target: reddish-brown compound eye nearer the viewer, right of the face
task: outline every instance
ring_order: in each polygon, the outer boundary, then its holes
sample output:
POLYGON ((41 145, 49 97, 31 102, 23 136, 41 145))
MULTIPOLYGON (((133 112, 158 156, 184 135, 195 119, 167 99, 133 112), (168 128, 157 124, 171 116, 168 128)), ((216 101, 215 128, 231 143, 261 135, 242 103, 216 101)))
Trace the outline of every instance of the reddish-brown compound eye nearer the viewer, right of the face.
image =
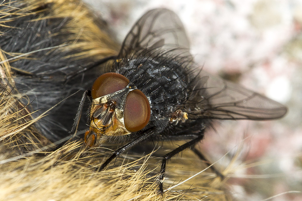
POLYGON ((127 95, 124 106, 124 123, 130 132, 142 130, 150 119, 150 104, 143 92, 136 89, 127 95))

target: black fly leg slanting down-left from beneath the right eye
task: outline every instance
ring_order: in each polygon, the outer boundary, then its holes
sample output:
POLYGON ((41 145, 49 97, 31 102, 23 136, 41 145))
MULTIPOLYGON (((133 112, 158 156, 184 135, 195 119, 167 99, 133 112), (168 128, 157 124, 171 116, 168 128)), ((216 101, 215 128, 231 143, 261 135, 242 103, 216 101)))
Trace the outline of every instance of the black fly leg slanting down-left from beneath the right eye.
POLYGON ((148 128, 147 130, 144 131, 144 133, 140 137, 132 140, 131 142, 129 142, 129 143, 125 144, 124 146, 121 146, 120 148, 115 150, 113 152, 113 154, 101 165, 101 167, 98 169, 98 171, 102 171, 113 159, 117 158, 120 154, 122 154, 127 149, 133 147, 137 143, 140 143, 141 141, 150 137, 154 133, 153 128, 154 127, 148 128))

